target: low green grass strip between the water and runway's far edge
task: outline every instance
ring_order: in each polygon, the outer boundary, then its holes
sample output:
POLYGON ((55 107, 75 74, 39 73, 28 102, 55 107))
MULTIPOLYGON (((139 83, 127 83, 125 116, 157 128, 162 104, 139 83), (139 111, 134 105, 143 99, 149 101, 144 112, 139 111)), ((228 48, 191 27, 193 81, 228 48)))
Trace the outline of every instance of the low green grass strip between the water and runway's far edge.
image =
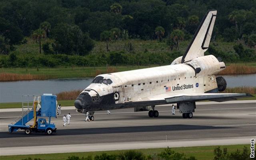
MULTIPOLYGON (((252 94, 254 97, 248 97, 248 98, 240 98, 238 100, 256 100, 256 94, 252 94)), ((59 100, 58 103, 60 103, 63 107, 64 106, 74 106, 74 100, 59 100)), ((0 103, 0 109, 4 108, 21 108, 22 103, 21 102, 13 102, 13 103, 0 103)))

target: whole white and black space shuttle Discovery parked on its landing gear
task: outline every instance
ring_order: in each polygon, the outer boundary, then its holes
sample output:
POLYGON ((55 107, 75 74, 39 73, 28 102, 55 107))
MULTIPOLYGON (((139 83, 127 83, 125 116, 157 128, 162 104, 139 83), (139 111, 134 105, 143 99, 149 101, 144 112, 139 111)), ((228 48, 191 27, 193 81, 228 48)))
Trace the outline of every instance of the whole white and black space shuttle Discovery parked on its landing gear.
POLYGON ((158 117, 156 105, 177 103, 183 118, 192 118, 196 101, 228 101, 250 94, 217 93, 226 89, 226 80, 216 74, 226 68, 208 49, 217 10, 204 16, 182 57, 170 65, 125 72, 100 74, 74 102, 77 111, 94 111, 151 106, 149 117, 158 117))

